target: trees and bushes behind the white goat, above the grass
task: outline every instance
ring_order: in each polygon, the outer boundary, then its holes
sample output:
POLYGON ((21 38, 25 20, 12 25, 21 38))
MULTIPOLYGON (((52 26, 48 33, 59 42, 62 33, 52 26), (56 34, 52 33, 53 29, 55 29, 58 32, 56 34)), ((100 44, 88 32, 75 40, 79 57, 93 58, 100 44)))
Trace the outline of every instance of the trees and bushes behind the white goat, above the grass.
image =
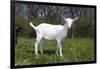
POLYGON ((32 21, 35 26, 42 22, 64 24, 61 15, 79 19, 72 25, 68 37, 94 37, 95 9, 87 7, 50 6, 37 4, 16 4, 15 23, 18 36, 35 37, 35 32, 29 26, 32 21), (23 35, 24 34, 24 35, 23 35), (33 36, 32 36, 33 35, 33 36))

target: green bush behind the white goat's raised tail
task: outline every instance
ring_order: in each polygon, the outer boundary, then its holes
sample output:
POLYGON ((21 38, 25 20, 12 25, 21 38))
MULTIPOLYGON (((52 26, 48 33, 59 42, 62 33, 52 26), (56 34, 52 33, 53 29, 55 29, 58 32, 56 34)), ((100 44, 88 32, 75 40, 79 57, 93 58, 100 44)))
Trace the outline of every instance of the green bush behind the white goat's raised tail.
POLYGON ((29 22, 37 26, 43 22, 43 18, 35 18, 33 20, 24 19, 23 16, 15 16, 15 27, 18 27, 17 36, 20 37, 36 37, 35 30, 30 27, 29 22))

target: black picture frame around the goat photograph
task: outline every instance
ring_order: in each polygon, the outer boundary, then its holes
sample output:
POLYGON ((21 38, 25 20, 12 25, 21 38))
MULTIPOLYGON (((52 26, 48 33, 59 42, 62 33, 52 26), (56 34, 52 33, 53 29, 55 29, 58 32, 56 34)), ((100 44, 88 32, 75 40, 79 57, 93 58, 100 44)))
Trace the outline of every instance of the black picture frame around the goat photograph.
POLYGON ((44 66, 60 66, 60 65, 77 65, 77 64, 92 64, 96 63, 96 6, 95 5, 80 5, 80 4, 62 4, 62 3, 47 3, 47 2, 35 2, 35 1, 11 1, 11 51, 10 51, 10 67, 11 68, 28 68, 28 67, 44 67, 44 66), (95 24, 94 24, 94 61, 86 61, 86 62, 71 62, 71 63, 56 63, 56 64, 38 64, 38 65, 18 65, 15 66, 15 4, 39 4, 39 5, 56 5, 56 6, 75 6, 75 7, 88 7, 88 8, 94 8, 95 9, 95 24))

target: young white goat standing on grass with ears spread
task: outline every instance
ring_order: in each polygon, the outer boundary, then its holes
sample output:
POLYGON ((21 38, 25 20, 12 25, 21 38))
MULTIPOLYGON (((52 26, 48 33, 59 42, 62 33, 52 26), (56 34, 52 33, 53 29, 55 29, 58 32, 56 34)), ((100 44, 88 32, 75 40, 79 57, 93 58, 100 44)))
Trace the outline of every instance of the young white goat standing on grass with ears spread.
POLYGON ((35 42, 35 54, 38 55, 38 48, 40 49, 40 53, 43 54, 42 50, 42 44, 43 39, 47 40, 56 40, 57 41, 57 50, 56 54, 58 55, 58 50, 60 53, 60 56, 62 55, 62 46, 61 41, 62 39, 67 36, 68 29, 71 28, 71 25, 74 21, 78 19, 78 17, 71 19, 71 18, 65 18, 64 25, 51 25, 47 23, 42 23, 35 27, 32 22, 30 22, 30 26, 35 29, 36 31, 36 42, 35 42))

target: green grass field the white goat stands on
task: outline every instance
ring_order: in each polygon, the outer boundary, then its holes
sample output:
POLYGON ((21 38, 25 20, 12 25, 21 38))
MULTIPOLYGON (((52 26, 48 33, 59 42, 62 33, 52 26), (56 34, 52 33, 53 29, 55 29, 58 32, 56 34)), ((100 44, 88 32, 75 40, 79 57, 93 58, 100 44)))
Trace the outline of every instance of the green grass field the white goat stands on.
POLYGON ((34 54, 35 39, 17 38, 17 40, 18 43, 15 47, 15 65, 94 61, 93 39, 64 39, 62 41, 63 58, 55 54, 55 41, 45 40, 43 44, 44 54, 36 58, 34 54))

